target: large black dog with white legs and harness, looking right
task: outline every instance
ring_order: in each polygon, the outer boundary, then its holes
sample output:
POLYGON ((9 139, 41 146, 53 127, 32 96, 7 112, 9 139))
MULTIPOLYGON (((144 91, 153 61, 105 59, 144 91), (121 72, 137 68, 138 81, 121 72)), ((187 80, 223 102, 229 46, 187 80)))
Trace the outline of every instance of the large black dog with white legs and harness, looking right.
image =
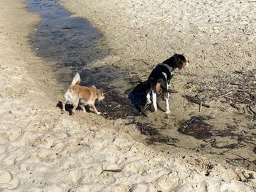
POLYGON ((166 114, 170 113, 169 110, 169 97, 168 87, 171 78, 173 77, 176 68, 182 69, 188 66, 189 61, 186 60, 184 55, 175 54, 167 60, 158 64, 148 77, 148 91, 146 96, 146 106, 153 102, 154 112, 157 111, 157 93, 162 90, 163 98, 165 98, 166 114), (151 102, 152 99, 152 102, 151 102))

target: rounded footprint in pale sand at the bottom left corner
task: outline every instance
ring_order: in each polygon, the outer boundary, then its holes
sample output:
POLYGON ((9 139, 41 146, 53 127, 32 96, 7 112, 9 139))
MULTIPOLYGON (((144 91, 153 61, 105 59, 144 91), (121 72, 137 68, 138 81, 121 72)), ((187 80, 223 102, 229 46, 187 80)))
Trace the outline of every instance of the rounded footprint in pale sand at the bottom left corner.
POLYGON ((20 181, 12 177, 12 173, 0 170, 0 191, 1 188, 14 189, 17 188, 20 181))

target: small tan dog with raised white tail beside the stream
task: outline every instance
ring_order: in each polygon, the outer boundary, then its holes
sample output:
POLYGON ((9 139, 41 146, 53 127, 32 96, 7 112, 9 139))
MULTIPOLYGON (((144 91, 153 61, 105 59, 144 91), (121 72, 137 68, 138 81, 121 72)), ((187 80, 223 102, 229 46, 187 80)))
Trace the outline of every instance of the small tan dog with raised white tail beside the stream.
POLYGON ((72 114, 75 113, 76 108, 79 107, 86 112, 86 108, 84 106, 89 105, 92 107, 94 112, 99 115, 100 112, 97 111, 95 107, 95 101, 102 101, 104 97, 104 93, 102 89, 97 89, 94 85, 91 88, 83 87, 78 85, 80 83, 80 75, 77 73, 75 74, 74 79, 72 80, 69 89, 64 95, 65 101, 62 102, 62 110, 65 110, 65 105, 72 104, 72 114))

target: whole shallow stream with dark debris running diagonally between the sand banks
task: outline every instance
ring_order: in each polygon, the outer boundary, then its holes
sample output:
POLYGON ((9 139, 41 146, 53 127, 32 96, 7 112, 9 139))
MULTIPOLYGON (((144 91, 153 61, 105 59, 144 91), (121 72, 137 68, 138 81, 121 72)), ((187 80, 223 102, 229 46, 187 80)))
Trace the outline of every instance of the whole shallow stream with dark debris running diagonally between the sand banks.
POLYGON ((70 17, 71 13, 59 1, 28 0, 28 9, 42 18, 35 36, 31 37, 37 55, 56 63, 53 66, 56 79, 65 86, 69 85, 72 75, 79 72, 82 85, 103 88, 106 99, 97 108, 105 118, 129 118, 148 135, 151 144, 162 143, 221 155, 231 163, 256 168, 256 126, 250 120, 241 121, 241 115, 232 114, 208 117, 210 112, 206 109, 201 113, 193 112, 191 105, 186 110, 176 93, 171 96, 171 115, 166 116, 163 112, 163 101, 159 101, 159 107, 162 107, 159 112, 140 114, 127 99, 129 91, 124 93, 138 85, 136 81, 140 79, 132 79, 129 72, 114 66, 91 65, 109 53, 96 28, 86 20, 70 17))

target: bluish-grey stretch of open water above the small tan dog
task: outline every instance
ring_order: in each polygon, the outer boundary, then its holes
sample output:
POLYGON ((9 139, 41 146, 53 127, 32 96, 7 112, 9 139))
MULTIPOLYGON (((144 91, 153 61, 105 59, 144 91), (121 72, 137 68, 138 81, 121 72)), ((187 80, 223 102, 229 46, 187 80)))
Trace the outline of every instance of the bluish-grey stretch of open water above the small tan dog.
POLYGON ((96 44, 102 34, 86 20, 70 17, 59 1, 28 0, 28 9, 42 18, 32 38, 40 57, 81 67, 108 54, 96 44))

